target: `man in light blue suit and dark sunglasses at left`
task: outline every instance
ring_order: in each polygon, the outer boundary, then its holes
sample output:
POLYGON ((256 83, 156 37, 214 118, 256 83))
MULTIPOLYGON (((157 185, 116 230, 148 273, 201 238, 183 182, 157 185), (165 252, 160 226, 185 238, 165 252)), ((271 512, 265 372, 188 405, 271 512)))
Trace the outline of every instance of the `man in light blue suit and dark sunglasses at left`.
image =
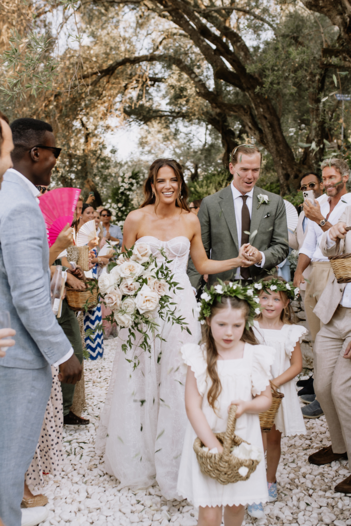
POLYGON ((24 476, 51 392, 50 366, 59 366, 59 380, 67 383, 81 378, 82 367, 51 310, 49 248, 36 197, 36 186, 50 184, 60 150, 41 120, 17 119, 11 129, 13 168, 0 190, 0 309, 11 315, 16 342, 0 360, 0 517, 6 526, 21 526, 24 476))

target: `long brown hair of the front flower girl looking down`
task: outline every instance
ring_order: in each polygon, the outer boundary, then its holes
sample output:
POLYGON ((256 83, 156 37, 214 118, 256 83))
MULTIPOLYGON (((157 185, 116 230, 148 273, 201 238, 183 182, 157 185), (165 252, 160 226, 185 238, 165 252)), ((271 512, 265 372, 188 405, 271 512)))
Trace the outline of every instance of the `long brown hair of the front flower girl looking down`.
MULTIPOLYGON (((245 321, 247 321, 250 312, 250 307, 244 299, 238 299, 236 297, 233 298, 231 296, 222 296, 221 299, 222 301, 218 301, 217 299, 215 299, 215 301, 213 302, 213 305, 211 307, 211 317, 214 316, 218 310, 227 309, 228 307, 230 307, 232 309, 241 309, 244 313, 245 321)), ((246 329, 245 327, 241 340, 246 343, 250 343, 251 345, 258 345, 258 341, 251 327, 249 329, 246 329)), ((212 409, 216 411, 215 403, 220 395, 220 392, 222 391, 222 385, 220 383, 217 371, 218 352, 216 349, 215 340, 212 336, 211 328, 207 323, 205 325, 205 342, 207 351, 207 371, 208 376, 212 380, 212 386, 209 388, 207 393, 207 400, 210 407, 212 407, 212 409)))

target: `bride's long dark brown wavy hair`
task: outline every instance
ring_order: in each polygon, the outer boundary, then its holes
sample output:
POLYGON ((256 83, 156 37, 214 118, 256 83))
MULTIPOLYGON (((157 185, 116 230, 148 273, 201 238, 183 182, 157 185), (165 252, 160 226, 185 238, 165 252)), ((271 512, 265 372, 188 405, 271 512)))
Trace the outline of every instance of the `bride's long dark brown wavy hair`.
POLYGON ((155 210, 157 209, 157 206, 159 204, 159 196, 156 194, 156 192, 153 195, 151 185, 153 184, 154 187, 156 187, 157 173, 160 168, 163 168, 163 166, 169 166, 170 168, 172 168, 178 180, 179 195, 177 196, 176 206, 178 206, 179 208, 183 208, 184 210, 189 212, 190 210, 187 205, 189 191, 188 187, 185 184, 183 168, 182 165, 180 165, 174 159, 156 159, 153 162, 153 164, 149 167, 149 174, 144 184, 145 199, 144 203, 140 205, 139 208, 143 208, 146 205, 155 205, 155 210), (180 196, 182 196, 181 199, 180 196))

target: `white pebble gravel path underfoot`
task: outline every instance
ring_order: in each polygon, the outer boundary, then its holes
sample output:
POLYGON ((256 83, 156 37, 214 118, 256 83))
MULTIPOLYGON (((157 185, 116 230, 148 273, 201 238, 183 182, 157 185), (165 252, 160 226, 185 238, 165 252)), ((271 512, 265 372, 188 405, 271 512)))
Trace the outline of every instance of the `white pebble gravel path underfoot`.
MULTIPOLYGON (((103 407, 114 358, 115 340, 105 342, 104 358, 85 362, 89 426, 64 428, 62 477, 45 476, 45 486, 34 493, 49 499, 48 519, 42 526, 195 526, 197 511, 186 500, 166 501, 154 486, 146 491, 117 490, 117 481, 104 473, 103 460, 95 454, 95 432, 103 407)), ((324 467, 312 466, 308 455, 328 446, 325 418, 307 420, 307 436, 284 438, 278 468, 278 500, 265 506, 266 518, 245 515, 244 524, 290 524, 306 526, 351 525, 351 495, 335 493, 334 486, 349 471, 346 461, 324 467)))

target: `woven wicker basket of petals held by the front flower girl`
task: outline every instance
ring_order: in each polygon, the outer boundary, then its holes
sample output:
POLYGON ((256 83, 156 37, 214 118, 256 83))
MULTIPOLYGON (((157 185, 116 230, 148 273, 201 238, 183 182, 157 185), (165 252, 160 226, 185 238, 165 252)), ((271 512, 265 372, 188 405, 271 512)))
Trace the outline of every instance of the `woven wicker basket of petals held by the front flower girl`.
POLYGON ((239 446, 242 442, 246 442, 235 434, 236 424, 236 406, 231 406, 229 411, 227 430, 225 433, 215 433, 219 442, 223 444, 222 453, 210 453, 204 451, 203 443, 199 438, 195 439, 194 451, 196 453, 197 461, 200 465, 200 470, 204 475, 216 479, 220 484, 232 484, 240 480, 247 480, 249 476, 255 471, 257 460, 242 460, 234 457, 230 453, 230 449, 234 446, 239 446), (239 469, 245 466, 248 472, 243 477, 239 473, 239 469))

